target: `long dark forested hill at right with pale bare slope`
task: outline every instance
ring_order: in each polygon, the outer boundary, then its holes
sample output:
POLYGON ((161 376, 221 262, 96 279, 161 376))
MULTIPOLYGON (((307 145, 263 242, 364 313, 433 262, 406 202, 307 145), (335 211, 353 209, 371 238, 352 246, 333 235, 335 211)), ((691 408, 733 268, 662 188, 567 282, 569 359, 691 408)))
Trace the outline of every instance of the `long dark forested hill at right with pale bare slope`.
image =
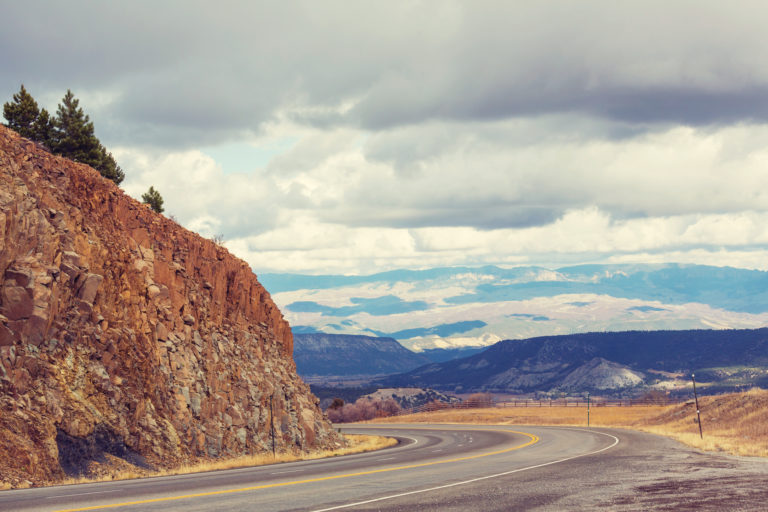
POLYGON ((505 340, 470 357, 381 379, 390 387, 603 394, 768 385, 768 329, 629 331, 505 340))

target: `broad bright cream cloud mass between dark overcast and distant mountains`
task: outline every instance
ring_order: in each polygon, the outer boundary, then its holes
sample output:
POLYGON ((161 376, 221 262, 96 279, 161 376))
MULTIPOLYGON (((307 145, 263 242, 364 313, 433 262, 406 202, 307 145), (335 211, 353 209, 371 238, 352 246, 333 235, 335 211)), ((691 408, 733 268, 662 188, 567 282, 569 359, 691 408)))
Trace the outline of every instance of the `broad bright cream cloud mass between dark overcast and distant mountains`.
POLYGON ((734 264, 762 268, 754 255, 768 247, 765 126, 506 145, 504 133, 525 131, 524 121, 376 137, 286 123, 252 143, 267 147, 286 133, 300 134, 298 142, 247 173, 194 150, 118 152, 138 171, 126 190, 138 197, 154 185, 168 212, 204 236, 223 234, 258 272, 556 266, 632 254, 707 263, 727 261, 723 248, 739 253, 734 264), (430 142, 446 133, 455 145, 430 142), (387 145, 408 156, 385 158, 387 145))

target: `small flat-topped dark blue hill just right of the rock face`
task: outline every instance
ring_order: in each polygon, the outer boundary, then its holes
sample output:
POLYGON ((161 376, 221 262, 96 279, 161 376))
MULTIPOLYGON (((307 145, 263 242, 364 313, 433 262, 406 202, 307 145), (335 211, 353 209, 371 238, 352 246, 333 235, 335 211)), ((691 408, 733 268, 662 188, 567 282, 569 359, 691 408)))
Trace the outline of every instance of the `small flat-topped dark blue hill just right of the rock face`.
POLYGON ((296 333, 293 358, 301 376, 371 376, 401 373, 430 360, 393 338, 296 333))

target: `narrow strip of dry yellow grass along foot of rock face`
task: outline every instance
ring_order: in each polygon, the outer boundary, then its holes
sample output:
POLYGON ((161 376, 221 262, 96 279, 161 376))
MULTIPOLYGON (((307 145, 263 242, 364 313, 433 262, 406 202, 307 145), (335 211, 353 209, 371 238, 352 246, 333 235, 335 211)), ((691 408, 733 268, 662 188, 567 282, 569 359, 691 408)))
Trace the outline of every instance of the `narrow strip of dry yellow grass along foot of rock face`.
MULTIPOLYGON (((93 482, 106 482, 112 480, 128 480, 132 478, 147 478, 155 476, 185 475, 189 473, 202 473, 205 471, 217 471, 222 469, 235 469, 252 466, 264 466, 283 462, 295 462, 299 460, 323 459, 339 455, 351 455, 354 453, 381 450, 397 444, 397 440, 384 436, 352 435, 344 434, 346 446, 336 450, 313 450, 310 452, 279 452, 275 457, 272 453, 244 455, 230 459, 211 459, 194 464, 183 464, 174 468, 159 470, 142 469, 125 462, 117 457, 106 455, 106 464, 96 464, 91 468, 93 476, 67 478, 52 482, 54 485, 71 485, 93 482)), ((0 483, 0 485, 6 485, 0 483)), ((10 488, 10 486, 6 487, 10 488)), ((0 487, 2 489, 2 487, 0 487)))

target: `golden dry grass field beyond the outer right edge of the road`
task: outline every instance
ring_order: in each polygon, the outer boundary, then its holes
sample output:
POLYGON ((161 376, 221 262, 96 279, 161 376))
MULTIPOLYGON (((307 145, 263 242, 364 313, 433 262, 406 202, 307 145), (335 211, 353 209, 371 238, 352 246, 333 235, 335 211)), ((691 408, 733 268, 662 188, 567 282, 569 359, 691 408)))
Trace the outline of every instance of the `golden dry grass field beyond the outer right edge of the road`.
MULTIPOLYGON (((768 390, 699 398, 701 426, 695 422, 696 406, 591 407, 590 425, 618 427, 672 437, 701 450, 734 455, 768 457, 768 390)), ((443 409, 440 411, 377 419, 389 423, 475 423, 502 425, 586 426, 586 407, 509 407, 443 409)))

